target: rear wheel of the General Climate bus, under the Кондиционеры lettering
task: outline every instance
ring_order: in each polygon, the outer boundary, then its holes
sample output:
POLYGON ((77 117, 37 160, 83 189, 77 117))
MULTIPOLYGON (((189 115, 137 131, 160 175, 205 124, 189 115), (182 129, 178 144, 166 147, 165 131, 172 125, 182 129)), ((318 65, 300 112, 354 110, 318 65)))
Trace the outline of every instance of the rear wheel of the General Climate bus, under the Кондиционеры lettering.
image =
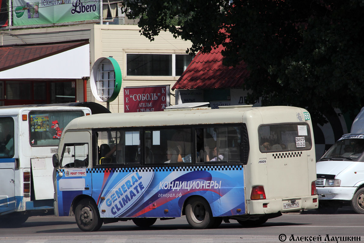
POLYGON ((203 197, 191 197, 187 201, 186 219, 194 229, 211 228, 215 222, 210 205, 203 197))

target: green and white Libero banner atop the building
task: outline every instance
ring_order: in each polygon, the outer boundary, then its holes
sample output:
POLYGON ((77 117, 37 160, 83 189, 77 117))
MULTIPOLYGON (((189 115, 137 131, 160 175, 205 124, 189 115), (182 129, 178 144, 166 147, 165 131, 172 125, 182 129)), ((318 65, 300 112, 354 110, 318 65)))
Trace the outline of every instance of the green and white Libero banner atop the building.
POLYGON ((98 0, 13 0, 13 9, 14 26, 100 19, 98 0))

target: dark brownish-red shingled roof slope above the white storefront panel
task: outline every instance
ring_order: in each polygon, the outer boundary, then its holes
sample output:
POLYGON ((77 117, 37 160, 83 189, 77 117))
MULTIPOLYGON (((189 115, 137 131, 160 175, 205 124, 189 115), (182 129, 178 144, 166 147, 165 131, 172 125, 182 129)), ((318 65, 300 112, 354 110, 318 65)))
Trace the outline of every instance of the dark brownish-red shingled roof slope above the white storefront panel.
MULTIPOLYGON (((0 72, 88 44, 88 41, 0 46, 0 72)), ((0 77, 1 78, 1 77, 0 77)))

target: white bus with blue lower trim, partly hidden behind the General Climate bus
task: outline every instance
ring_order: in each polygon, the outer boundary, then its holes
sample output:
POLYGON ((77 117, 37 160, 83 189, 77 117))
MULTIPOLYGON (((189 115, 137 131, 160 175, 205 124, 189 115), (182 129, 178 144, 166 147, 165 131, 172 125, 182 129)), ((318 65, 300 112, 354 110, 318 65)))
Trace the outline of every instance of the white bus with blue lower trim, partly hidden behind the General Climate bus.
POLYGON ((0 107, 0 224, 53 209, 52 155, 68 122, 90 113, 68 104, 0 107))

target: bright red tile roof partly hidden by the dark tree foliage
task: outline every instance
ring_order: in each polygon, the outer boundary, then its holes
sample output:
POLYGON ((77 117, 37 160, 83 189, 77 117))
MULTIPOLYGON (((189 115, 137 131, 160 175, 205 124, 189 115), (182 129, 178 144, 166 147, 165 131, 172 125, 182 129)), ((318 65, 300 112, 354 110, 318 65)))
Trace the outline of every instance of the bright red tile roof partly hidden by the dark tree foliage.
POLYGON ((198 52, 172 90, 242 88, 245 78, 249 77, 246 64, 241 61, 236 67, 223 66, 223 49, 223 46, 219 46, 210 53, 198 52))

